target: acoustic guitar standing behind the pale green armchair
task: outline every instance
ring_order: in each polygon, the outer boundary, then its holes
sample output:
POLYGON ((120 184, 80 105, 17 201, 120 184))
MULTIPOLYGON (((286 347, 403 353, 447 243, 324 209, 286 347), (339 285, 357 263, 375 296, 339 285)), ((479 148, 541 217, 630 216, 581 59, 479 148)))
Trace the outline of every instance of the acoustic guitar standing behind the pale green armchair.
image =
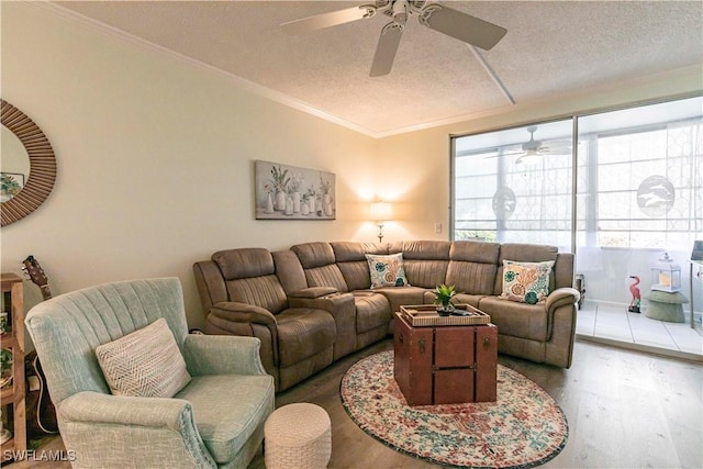
MULTIPOLYGON (((22 270, 32 282, 42 290, 42 298, 52 298, 52 290, 48 287, 48 279, 44 269, 34 256, 29 256, 22 263, 22 270)), ((42 370, 42 364, 36 356, 36 350, 30 351, 24 357, 26 375, 26 431, 30 438, 38 438, 44 435, 58 433, 56 422, 56 409, 46 390, 46 377, 42 370)))

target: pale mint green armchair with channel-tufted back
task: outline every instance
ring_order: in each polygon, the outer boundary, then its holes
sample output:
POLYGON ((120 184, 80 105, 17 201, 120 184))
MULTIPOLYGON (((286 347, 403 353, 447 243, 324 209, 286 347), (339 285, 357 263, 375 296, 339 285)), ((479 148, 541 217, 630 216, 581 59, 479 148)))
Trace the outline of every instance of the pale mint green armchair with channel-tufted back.
POLYGON ((259 339, 190 335, 178 279, 107 283, 26 316, 74 468, 235 468, 259 450, 274 379, 259 339), (174 398, 112 395, 96 347, 164 317, 191 381, 174 398))

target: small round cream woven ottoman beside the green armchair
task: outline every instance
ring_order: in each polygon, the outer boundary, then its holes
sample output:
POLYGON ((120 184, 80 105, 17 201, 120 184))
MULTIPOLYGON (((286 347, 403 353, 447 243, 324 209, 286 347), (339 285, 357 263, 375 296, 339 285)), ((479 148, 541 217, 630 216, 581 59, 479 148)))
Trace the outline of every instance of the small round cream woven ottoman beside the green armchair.
POLYGON ((283 405, 275 410, 264 424, 264 457, 267 469, 326 468, 330 456, 330 416, 319 405, 283 405))

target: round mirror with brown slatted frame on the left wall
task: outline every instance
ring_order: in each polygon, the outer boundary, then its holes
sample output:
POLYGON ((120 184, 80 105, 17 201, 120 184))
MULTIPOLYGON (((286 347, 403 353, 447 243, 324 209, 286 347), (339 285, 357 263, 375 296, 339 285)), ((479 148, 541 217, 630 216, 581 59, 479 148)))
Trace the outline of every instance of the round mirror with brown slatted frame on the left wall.
MULTIPOLYGON (((38 125, 24 112, 2 99, 0 99, 0 118, 2 125, 24 146, 30 161, 29 175, 21 171, 5 171, 3 155, 0 215, 2 226, 5 226, 25 217, 46 200, 56 180, 56 157, 38 125)), ((3 152, 4 149, 3 146, 3 152)))

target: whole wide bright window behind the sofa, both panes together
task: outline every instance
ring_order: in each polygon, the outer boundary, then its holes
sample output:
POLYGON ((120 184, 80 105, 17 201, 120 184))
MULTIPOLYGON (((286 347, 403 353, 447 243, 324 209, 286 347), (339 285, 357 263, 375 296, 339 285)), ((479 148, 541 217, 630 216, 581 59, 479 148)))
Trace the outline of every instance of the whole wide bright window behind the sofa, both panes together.
POLYGON ((702 113, 691 98, 455 137, 453 236, 691 246, 703 233, 702 113))

